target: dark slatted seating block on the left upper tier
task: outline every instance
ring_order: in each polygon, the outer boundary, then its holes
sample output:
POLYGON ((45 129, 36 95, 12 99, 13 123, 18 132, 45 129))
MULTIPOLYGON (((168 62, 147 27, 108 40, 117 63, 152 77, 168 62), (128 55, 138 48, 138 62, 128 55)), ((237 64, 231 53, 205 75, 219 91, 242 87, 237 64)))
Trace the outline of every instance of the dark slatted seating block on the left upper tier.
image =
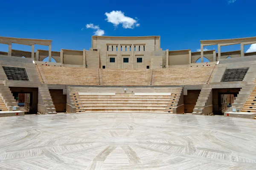
POLYGON ((29 81, 25 68, 3 66, 3 70, 9 80, 29 81))

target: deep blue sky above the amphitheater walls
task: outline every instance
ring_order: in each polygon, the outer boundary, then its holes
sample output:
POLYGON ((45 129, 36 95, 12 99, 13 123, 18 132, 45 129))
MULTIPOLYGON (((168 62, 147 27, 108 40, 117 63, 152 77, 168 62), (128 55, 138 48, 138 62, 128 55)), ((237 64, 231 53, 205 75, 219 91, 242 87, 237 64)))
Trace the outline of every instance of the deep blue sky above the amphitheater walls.
MULTIPOLYGON (((163 50, 197 51, 200 40, 256 36, 255 0, 4 0, 1 6, 0 36, 52 40, 52 51, 89 50, 97 30, 106 36, 160 35, 163 50)), ((26 45, 12 48, 31 51, 26 45)), ((233 50, 240 45, 221 48, 233 50)), ((8 46, 0 44, 0 51, 8 46)))

